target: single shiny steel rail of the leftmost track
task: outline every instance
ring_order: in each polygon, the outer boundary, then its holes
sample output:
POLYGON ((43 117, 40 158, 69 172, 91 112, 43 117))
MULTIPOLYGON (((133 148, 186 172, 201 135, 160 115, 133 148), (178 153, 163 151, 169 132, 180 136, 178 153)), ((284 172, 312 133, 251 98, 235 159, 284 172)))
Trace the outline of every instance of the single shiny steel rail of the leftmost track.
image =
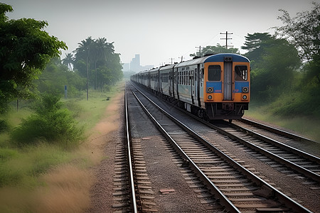
POLYGON ((128 146, 128 161, 129 161, 129 183, 130 183, 130 191, 131 191, 131 206, 132 206, 132 211, 134 213, 138 212, 137 208, 137 200, 136 200, 136 193, 135 193, 135 187, 134 187, 134 173, 133 173, 133 168, 132 168, 132 154, 131 154, 131 134, 130 134, 130 129, 129 129, 129 114, 128 114, 128 102, 127 102, 127 85, 124 89, 125 95, 124 95, 124 108, 125 108, 125 118, 126 118, 126 138, 127 138, 127 146, 128 146))

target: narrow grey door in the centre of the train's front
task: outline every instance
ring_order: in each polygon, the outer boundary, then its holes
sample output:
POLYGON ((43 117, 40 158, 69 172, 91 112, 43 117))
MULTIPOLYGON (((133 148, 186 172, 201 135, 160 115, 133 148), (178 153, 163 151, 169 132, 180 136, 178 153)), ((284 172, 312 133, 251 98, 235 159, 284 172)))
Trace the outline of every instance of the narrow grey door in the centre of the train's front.
POLYGON ((223 100, 233 100, 233 62, 232 58, 225 57, 223 72, 223 100))

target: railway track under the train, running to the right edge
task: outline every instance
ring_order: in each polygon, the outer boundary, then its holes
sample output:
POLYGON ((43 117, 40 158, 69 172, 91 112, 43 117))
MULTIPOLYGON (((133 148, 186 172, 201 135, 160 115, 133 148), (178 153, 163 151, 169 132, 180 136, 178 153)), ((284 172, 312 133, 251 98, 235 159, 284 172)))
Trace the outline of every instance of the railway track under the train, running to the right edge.
MULTIPOLYGON (((273 167, 277 167, 279 170, 285 170, 291 175, 299 175, 295 173, 295 171, 297 171, 306 178, 311 179, 309 184, 312 183, 312 180, 316 181, 314 184, 320 183, 320 158, 297 148, 293 148, 292 146, 287 146, 284 143, 285 141, 316 143, 315 141, 311 141, 308 138, 298 136, 294 133, 258 124, 257 122, 250 121, 248 119, 242 119, 241 121, 242 123, 249 124, 249 126, 235 125, 227 122, 223 122, 222 124, 209 124, 208 122, 193 116, 193 114, 189 115, 194 119, 201 121, 203 124, 206 124, 210 128, 232 138, 235 141, 234 143, 241 143, 247 148, 250 148, 257 153, 261 153, 263 156, 267 157, 267 159, 261 158, 265 160, 265 163, 269 163, 273 167), (257 126, 259 129, 263 129, 269 134, 264 136, 262 135, 262 133, 265 134, 264 131, 252 131, 252 126, 257 126), (280 163, 280 165, 277 163, 280 163), (287 168, 291 170, 288 170, 287 168)), ((256 155, 257 153, 254 154, 256 155)))

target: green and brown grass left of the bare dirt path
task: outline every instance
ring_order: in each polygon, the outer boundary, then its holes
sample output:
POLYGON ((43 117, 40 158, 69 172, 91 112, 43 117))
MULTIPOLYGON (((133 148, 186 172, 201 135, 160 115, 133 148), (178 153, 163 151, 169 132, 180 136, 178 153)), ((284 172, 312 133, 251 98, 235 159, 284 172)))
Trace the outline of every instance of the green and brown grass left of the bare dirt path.
MULTIPOLYGON (((123 83, 110 92, 90 92, 89 101, 84 94, 82 99, 63 102, 85 125, 89 137, 97 133, 92 129, 97 129, 94 127, 102 118, 114 114, 113 109, 107 113, 105 110, 123 92, 122 88, 123 83)), ((14 127, 31 113, 27 108, 11 111, 7 120, 14 127)), ((46 143, 15 148, 9 133, 1 133, 0 212, 83 212, 90 204, 90 186, 94 182, 90 167, 107 158, 102 154, 103 144, 92 143, 88 138, 72 151, 46 143)))

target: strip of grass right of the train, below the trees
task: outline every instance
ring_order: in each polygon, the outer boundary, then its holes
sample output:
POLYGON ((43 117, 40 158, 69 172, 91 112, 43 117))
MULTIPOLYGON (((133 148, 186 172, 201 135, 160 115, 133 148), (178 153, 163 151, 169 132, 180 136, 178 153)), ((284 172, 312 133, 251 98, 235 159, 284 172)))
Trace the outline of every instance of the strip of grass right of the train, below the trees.
POLYGON ((280 116, 272 112, 272 105, 260 105, 253 102, 250 103, 249 110, 245 112, 245 117, 266 121, 320 142, 319 118, 299 115, 280 116))

